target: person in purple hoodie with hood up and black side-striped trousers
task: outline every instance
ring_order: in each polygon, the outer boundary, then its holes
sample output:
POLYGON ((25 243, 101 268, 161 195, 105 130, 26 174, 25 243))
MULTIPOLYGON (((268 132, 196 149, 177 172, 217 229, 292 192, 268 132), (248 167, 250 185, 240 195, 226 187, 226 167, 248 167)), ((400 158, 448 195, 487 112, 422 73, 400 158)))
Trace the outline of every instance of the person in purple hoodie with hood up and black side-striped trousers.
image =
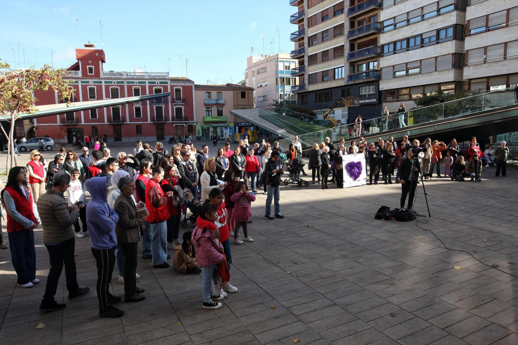
POLYGON ((106 202, 108 183, 105 177, 92 177, 85 181, 84 185, 92 196, 87 205, 87 223, 92 254, 97 262, 99 316, 120 318, 124 311, 113 307, 112 304, 120 302, 122 297, 113 296, 109 292, 117 246, 115 224, 119 221, 119 215, 106 202))

